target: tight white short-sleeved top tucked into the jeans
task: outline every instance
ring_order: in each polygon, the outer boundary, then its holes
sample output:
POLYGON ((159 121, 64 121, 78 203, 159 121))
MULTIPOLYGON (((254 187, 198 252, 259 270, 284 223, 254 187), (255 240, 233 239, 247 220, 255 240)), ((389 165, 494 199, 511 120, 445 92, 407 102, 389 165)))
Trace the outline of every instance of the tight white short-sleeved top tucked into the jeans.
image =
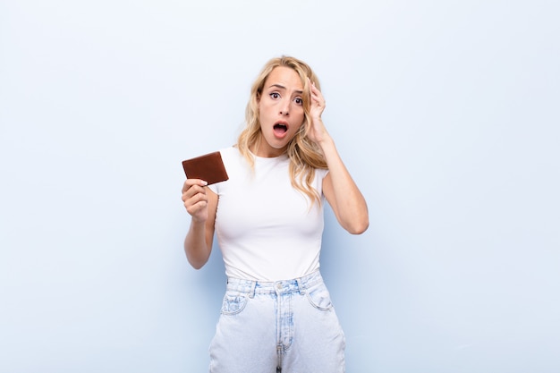
MULTIPOLYGON (((290 182, 287 156, 255 157, 254 173, 237 148, 220 151, 229 180, 210 185, 218 195, 216 236, 228 277, 278 281, 318 270, 323 207, 290 182)), ((323 178, 312 186, 322 203, 323 178)))

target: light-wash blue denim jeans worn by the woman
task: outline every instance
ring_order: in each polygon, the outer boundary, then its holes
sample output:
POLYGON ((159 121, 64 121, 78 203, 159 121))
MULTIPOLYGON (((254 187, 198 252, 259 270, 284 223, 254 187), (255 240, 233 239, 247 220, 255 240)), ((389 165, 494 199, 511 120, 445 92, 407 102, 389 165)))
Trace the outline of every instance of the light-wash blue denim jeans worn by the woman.
POLYGON ((209 352, 210 373, 344 373, 344 333, 319 272, 228 278, 209 352))

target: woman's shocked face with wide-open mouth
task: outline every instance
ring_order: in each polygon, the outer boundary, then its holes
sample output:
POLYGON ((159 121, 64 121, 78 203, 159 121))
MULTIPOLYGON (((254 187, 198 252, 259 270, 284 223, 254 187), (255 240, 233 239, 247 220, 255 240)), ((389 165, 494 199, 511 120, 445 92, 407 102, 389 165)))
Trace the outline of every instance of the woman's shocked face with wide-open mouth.
POLYGON ((260 141, 256 156, 277 157, 300 130, 304 119, 300 75, 284 66, 268 74, 259 97, 260 141))

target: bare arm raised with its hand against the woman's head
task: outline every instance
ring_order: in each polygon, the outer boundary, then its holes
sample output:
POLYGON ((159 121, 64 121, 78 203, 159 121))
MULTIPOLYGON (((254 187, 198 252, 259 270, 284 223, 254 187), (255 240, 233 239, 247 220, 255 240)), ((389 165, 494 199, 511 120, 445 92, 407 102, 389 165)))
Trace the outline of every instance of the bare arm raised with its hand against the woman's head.
POLYGON ((325 110, 325 99, 321 92, 310 82, 311 128, 310 140, 318 143, 327 160, 328 174, 323 179, 323 193, 335 212, 336 219, 346 231, 352 234, 364 233, 369 226, 368 205, 352 176, 346 169, 321 119, 325 110))

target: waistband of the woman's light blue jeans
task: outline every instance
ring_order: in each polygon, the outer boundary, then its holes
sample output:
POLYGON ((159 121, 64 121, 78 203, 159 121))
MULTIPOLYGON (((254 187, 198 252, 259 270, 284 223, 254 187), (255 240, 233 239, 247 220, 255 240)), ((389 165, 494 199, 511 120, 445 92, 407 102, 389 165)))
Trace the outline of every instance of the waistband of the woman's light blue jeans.
POLYGON ((243 280, 242 278, 227 278, 226 289, 233 292, 245 292, 252 297, 254 294, 283 293, 283 292, 305 292, 313 285, 323 282, 323 277, 319 271, 310 275, 293 278, 291 280, 281 280, 274 282, 243 280))

